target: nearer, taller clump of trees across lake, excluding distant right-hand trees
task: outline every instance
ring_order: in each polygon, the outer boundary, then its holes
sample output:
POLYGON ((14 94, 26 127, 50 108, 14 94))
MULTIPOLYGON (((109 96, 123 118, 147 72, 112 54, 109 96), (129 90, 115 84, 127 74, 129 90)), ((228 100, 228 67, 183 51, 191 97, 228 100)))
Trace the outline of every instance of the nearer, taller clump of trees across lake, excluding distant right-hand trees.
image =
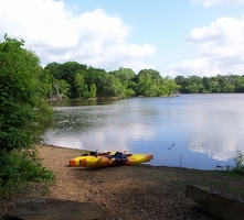
POLYGON ((155 69, 141 69, 138 75, 130 68, 106 72, 77 62, 51 63, 44 67, 49 82, 49 98, 128 98, 134 96, 168 97, 179 86, 170 77, 155 69))

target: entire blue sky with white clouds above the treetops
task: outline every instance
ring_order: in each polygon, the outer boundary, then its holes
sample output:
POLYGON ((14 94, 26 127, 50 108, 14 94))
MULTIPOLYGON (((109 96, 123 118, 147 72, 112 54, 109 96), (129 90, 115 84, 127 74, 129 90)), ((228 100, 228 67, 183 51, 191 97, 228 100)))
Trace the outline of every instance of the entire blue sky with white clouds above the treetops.
POLYGON ((244 0, 0 0, 0 42, 4 34, 43 67, 244 75, 244 0))

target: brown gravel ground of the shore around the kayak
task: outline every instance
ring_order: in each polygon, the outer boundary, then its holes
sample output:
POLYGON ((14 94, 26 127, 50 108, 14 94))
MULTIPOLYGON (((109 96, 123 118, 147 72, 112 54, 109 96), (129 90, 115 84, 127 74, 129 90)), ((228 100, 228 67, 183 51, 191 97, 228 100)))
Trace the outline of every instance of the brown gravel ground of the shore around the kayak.
POLYGON ((185 197, 188 185, 244 198, 244 176, 145 164, 86 169, 68 166, 81 151, 49 145, 36 148, 43 165, 57 174, 47 196, 98 204, 106 210, 106 220, 213 219, 185 197))

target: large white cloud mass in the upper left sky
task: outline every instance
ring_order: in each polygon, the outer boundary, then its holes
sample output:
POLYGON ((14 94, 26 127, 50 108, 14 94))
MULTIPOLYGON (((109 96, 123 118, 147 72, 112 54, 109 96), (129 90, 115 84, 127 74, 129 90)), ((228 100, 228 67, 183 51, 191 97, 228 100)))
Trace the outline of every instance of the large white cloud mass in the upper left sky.
POLYGON ((131 32, 118 14, 102 9, 77 13, 63 1, 0 0, 0 35, 23 38, 42 65, 76 61, 106 70, 120 66, 140 70, 156 46, 130 43, 131 32))

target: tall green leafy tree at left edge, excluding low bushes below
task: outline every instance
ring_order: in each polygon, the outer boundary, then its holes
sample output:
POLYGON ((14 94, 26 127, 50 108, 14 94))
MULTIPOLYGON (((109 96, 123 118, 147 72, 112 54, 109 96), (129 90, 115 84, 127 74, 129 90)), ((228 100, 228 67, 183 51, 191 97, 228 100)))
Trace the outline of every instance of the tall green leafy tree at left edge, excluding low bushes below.
MULTIPOLYGON (((24 41, 7 35, 0 43, 0 150, 30 147, 43 112, 43 74, 39 57, 24 50, 24 41)), ((47 116, 47 113, 46 113, 47 116)))

